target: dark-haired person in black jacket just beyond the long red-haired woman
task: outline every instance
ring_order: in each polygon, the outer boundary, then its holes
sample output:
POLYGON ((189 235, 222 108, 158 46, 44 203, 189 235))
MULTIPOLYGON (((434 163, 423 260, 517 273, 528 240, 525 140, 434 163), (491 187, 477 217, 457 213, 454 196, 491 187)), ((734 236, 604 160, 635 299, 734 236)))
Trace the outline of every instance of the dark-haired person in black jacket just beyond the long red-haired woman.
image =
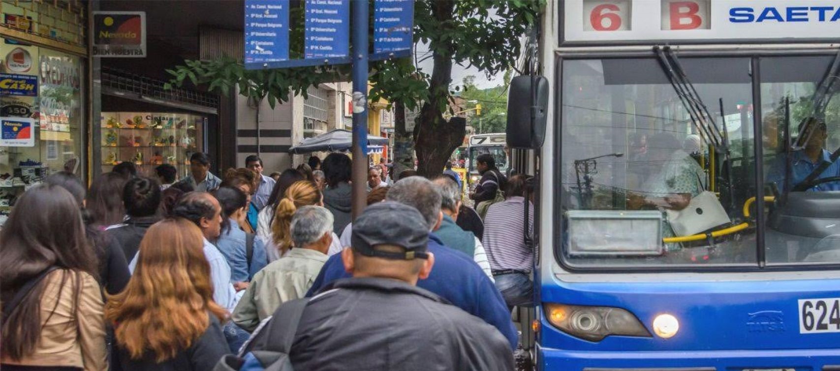
POLYGON ((107 232, 123 248, 125 261, 130 263, 146 230, 160 220, 157 216, 160 184, 151 178, 129 180, 123 187, 123 204, 129 218, 123 224, 108 228, 107 232))

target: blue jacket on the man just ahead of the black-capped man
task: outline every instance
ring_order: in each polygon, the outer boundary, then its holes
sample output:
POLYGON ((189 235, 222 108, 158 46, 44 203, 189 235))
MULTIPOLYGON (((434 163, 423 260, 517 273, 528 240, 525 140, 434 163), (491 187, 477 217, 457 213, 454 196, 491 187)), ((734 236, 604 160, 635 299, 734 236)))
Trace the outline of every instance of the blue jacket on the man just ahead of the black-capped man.
MULTIPOLYGON (((434 254, 434 267, 426 280, 417 281, 417 287, 440 295, 454 306, 496 327, 507 337, 511 349, 515 349, 518 336, 511 321, 511 312, 507 310, 496 285, 475 264, 475 260, 465 253, 444 246, 434 234, 429 235, 428 251, 434 254)), ((335 254, 323 265, 307 296, 318 293, 334 280, 348 277, 351 275, 344 270, 341 254, 335 254)))

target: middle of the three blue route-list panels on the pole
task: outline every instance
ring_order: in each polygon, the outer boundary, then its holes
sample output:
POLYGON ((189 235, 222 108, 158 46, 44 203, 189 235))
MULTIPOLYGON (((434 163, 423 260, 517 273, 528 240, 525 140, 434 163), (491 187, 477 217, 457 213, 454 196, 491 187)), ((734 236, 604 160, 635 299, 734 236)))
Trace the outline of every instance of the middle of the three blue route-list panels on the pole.
POLYGON ((347 57, 350 52, 350 0, 306 0, 303 58, 347 57))

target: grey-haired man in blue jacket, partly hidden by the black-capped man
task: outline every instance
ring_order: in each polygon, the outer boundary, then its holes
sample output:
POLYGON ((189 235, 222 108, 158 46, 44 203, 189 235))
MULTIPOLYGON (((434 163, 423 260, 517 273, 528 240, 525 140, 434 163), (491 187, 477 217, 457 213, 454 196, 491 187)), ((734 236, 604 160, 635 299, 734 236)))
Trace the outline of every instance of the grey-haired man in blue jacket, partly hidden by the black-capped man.
MULTIPOLYGON (((402 179, 388 191, 386 201, 413 206, 426 219, 430 230, 440 227, 443 218, 440 212, 441 196, 430 180, 419 176, 402 179)), ((454 306, 496 327, 507 337, 511 348, 515 349, 518 336, 511 321, 511 312, 507 310, 496 285, 493 285, 472 257, 444 246, 434 234, 429 234, 428 251, 434 254, 434 269, 427 279, 417 281, 417 287, 440 295, 454 306)), ((334 280, 351 276, 344 270, 341 255, 333 255, 324 264, 307 296, 318 293, 334 280)))

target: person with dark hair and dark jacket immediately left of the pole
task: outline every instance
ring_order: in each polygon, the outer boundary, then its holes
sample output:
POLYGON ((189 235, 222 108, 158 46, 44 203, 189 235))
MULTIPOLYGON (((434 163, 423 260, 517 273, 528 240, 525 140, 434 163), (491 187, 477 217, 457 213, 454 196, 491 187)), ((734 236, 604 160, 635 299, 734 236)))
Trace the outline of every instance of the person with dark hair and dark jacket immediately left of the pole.
POLYGON ((323 159, 321 166, 327 178, 327 189, 323 191, 323 205, 335 217, 333 233, 342 233, 350 222, 350 211, 353 207, 353 187, 350 186, 353 161, 347 154, 333 152, 323 159))

